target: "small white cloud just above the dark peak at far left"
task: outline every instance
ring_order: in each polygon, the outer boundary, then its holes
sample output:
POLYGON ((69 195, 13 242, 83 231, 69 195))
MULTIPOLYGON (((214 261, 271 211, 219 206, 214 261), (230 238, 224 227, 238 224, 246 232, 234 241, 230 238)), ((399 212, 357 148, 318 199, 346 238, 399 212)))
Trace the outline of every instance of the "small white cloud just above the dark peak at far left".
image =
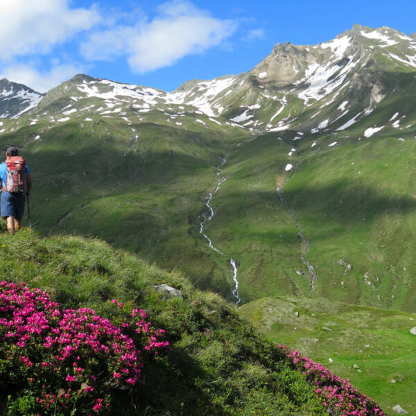
POLYGON ((14 64, 3 69, 1 78, 7 78, 14 83, 24 84, 35 89, 37 92, 47 92, 60 83, 69 80, 76 73, 83 72, 82 67, 58 64, 49 71, 36 71, 32 66, 26 64, 14 64))

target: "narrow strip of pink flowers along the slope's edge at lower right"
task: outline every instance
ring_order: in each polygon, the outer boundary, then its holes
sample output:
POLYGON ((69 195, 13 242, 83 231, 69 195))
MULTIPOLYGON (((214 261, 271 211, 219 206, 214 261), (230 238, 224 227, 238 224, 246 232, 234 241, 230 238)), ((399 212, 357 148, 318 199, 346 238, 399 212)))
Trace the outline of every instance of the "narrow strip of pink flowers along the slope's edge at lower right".
POLYGON ((293 348, 277 345, 283 354, 315 384, 322 404, 340 416, 385 416, 376 402, 356 390, 349 380, 333 374, 321 364, 314 363, 293 348))

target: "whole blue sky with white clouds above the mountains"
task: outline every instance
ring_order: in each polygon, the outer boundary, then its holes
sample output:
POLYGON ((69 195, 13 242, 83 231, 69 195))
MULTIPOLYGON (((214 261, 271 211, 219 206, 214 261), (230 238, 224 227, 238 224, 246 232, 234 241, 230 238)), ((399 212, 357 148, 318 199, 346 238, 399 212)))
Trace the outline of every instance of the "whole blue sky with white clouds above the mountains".
POLYGON ((172 91, 354 23, 416 32, 415 0, 0 0, 0 16, 0 79, 40 92, 76 73, 172 91))

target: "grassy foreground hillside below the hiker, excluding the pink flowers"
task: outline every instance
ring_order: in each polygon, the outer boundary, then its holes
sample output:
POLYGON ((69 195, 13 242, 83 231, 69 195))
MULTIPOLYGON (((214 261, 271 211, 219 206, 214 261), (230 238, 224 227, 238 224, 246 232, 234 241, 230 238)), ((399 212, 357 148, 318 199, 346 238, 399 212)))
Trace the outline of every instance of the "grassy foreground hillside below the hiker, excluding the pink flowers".
MULTIPOLYGON (((23 230, 1 234, 2 279, 26 281, 64 308, 88 306, 110 315, 108 300, 146 310, 166 329, 172 350, 146 363, 146 384, 125 415, 325 415, 315 388, 277 348, 214 293, 198 291, 177 272, 164 272, 98 239, 41 239, 23 230), (183 297, 155 290, 168 284, 183 297)), ((1 397, 2 415, 5 397, 1 397)))

